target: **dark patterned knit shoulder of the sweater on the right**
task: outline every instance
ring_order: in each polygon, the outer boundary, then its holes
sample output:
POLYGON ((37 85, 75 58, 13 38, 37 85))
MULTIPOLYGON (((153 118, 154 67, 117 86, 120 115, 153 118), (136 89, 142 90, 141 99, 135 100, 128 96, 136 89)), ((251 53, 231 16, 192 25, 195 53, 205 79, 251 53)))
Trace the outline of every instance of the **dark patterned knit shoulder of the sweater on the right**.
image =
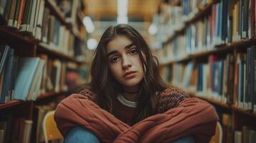
POLYGON ((158 95, 158 113, 163 113, 169 109, 183 106, 180 104, 184 99, 191 98, 189 94, 180 89, 169 87, 158 95))

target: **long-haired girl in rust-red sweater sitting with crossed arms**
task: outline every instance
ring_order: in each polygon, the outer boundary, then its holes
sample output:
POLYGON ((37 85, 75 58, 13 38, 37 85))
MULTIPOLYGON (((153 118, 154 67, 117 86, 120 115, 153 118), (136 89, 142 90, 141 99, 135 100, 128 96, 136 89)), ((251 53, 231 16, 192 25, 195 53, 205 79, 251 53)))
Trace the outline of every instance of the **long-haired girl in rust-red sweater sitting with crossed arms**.
POLYGON ((189 136, 209 142, 214 135, 214 108, 167 87, 148 44, 127 24, 104 32, 90 76, 85 89, 62 100, 54 114, 66 141, 172 142, 189 136))

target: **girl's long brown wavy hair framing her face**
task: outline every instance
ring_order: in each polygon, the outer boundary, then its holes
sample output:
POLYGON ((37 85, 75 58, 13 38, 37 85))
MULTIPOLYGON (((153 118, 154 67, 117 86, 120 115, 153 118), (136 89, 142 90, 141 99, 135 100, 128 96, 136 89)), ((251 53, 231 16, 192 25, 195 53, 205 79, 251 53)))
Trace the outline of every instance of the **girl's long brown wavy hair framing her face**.
POLYGON ((122 86, 110 72, 106 47, 116 36, 126 36, 133 41, 138 48, 143 71, 146 73, 138 92, 136 113, 133 119, 133 123, 136 123, 156 113, 156 93, 167 87, 160 77, 156 56, 152 55, 148 44, 136 29, 128 24, 108 27, 95 50, 95 57, 90 69, 91 81, 85 88, 96 94, 96 102, 101 108, 113 113, 115 110, 113 99, 121 92, 122 86), (146 60, 143 59, 142 53, 145 54, 146 60))

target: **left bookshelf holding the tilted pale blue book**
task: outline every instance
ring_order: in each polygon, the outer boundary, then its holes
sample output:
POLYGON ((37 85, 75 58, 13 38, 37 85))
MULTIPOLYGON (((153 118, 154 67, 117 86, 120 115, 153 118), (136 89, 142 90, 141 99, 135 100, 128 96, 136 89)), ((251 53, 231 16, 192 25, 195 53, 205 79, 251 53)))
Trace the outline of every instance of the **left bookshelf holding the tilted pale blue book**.
POLYGON ((71 15, 62 1, 1 1, 0 142, 44 142, 44 114, 87 79, 85 1, 69 2, 71 15))

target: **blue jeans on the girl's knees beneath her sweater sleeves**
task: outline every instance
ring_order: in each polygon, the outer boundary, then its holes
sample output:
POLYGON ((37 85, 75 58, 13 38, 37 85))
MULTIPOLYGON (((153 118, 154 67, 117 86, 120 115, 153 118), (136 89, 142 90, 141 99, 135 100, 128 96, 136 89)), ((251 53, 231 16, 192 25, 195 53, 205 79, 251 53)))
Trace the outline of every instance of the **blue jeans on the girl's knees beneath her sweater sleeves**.
MULTIPOLYGON (((75 127, 71 129, 70 132, 65 137, 65 143, 100 143, 100 140, 90 131, 87 131, 83 127, 75 127)), ((173 143, 194 143, 194 138, 183 137, 181 139, 177 139, 173 143)))

